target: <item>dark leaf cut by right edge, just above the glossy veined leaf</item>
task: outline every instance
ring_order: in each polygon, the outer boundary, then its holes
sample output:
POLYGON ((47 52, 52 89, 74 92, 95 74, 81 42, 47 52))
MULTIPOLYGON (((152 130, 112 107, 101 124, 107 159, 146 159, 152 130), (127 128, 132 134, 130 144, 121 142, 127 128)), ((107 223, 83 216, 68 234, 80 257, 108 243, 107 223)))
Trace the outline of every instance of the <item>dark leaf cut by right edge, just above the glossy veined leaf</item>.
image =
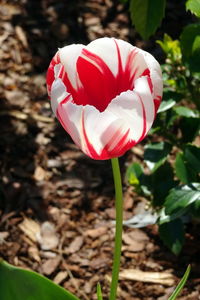
POLYGON ((190 144, 186 145, 184 156, 191 168, 200 173, 200 148, 190 144))

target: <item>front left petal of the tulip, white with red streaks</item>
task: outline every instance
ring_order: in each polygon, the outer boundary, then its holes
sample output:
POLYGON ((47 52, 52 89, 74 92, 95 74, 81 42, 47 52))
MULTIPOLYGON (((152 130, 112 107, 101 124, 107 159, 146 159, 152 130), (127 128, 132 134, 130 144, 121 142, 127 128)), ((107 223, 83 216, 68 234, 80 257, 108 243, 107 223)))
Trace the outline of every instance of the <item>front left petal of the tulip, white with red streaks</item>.
POLYGON ((119 156, 129 142, 123 119, 112 113, 100 113, 93 106, 63 101, 58 106, 57 117, 76 145, 93 159, 119 156))

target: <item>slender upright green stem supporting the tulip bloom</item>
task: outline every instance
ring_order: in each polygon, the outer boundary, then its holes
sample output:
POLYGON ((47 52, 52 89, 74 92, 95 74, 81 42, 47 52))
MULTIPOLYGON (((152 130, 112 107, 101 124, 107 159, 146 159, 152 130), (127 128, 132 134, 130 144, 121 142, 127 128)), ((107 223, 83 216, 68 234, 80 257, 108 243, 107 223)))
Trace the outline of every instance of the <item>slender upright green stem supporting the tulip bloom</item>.
POLYGON ((119 279, 119 267, 122 246, 122 226, 123 226, 123 194, 122 182, 119 168, 118 158, 112 158, 112 170, 115 184, 115 209, 116 209, 116 225, 115 225, 115 249, 113 258, 112 281, 109 300, 115 300, 117 294, 117 286, 119 279))

